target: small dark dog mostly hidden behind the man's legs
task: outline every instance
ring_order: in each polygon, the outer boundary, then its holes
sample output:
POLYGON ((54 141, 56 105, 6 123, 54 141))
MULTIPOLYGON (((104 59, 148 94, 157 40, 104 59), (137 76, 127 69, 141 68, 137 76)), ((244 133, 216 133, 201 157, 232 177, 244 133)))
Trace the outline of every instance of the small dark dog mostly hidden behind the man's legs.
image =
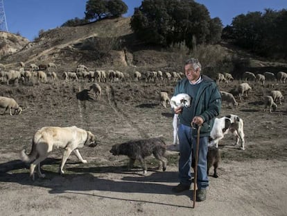
MULTIPOLYGON (((193 157, 194 159, 194 157, 193 157)), ((207 175, 209 175, 209 169, 214 166, 214 178, 218 178, 216 169, 218 167, 218 163, 220 161, 220 154, 218 151, 218 148, 216 147, 208 147, 207 151, 207 175)), ((195 161, 192 160, 191 167, 193 167, 194 170, 194 163, 195 161)))

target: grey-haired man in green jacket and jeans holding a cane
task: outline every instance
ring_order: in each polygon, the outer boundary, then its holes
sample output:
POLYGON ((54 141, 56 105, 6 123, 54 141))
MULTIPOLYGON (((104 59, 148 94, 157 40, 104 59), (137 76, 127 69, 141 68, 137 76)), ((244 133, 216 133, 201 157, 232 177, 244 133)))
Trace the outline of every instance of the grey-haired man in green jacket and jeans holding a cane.
POLYGON ((207 186, 209 180, 207 176, 207 141, 214 117, 219 115, 221 108, 221 96, 216 83, 209 77, 201 75, 200 62, 191 58, 186 61, 184 66, 186 78, 179 81, 175 87, 174 95, 180 93, 189 94, 192 98, 191 106, 178 107, 173 111, 178 114, 180 125, 178 126, 178 138, 180 140, 180 160, 179 160, 179 179, 180 184, 173 187, 173 192, 189 190, 191 185, 191 149, 195 152, 197 129, 200 128, 200 145, 198 156, 198 192, 197 201, 204 201, 207 196, 207 186))

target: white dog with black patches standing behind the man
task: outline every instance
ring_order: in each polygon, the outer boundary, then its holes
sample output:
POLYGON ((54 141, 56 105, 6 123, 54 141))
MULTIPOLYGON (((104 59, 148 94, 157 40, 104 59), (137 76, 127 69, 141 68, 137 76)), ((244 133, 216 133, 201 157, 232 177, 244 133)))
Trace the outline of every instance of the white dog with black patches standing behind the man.
POLYGON ((209 146, 218 148, 218 142, 224 138, 224 135, 231 132, 236 137, 234 145, 239 144, 241 140, 241 149, 245 150, 245 140, 243 132, 243 119, 238 115, 225 115, 224 117, 215 118, 214 126, 210 132, 209 146))

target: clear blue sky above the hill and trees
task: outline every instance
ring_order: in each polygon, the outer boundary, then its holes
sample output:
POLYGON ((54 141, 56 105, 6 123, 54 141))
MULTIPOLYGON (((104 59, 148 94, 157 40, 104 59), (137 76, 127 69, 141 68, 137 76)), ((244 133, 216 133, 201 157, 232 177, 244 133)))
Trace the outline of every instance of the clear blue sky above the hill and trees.
MULTIPOLYGON (((287 9, 287 0, 195 0, 204 4, 211 18, 219 17, 223 25, 232 23, 240 14, 287 9)), ((28 40, 38 36, 40 30, 49 30, 64 24, 69 19, 85 16, 86 0, 3 0, 8 31, 20 33, 28 40)), ((128 6, 126 17, 134 13, 141 0, 125 0, 128 6)))

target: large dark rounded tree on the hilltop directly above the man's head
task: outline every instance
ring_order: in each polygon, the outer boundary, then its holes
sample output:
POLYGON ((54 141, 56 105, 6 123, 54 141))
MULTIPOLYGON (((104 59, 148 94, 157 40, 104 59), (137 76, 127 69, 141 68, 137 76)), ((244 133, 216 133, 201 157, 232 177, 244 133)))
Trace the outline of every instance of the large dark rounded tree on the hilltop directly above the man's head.
POLYGON ((164 47, 184 42, 190 49, 218 42, 222 29, 220 19, 211 20, 207 8, 193 0, 143 0, 130 26, 143 42, 164 47))

